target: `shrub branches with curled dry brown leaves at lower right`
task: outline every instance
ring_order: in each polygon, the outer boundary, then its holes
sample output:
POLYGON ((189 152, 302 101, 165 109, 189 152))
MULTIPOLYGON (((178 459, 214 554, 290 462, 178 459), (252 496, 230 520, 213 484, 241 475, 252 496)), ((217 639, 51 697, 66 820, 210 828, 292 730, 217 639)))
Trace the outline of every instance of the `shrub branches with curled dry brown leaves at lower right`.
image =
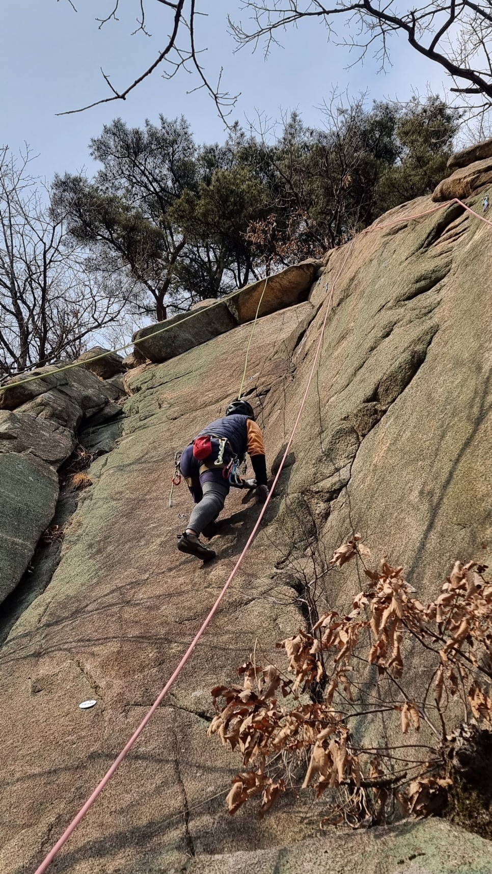
MULTIPOLYGON (((370 556, 356 535, 330 564, 370 556)), ((217 714, 208 734, 237 749, 246 769, 232 780, 230 813, 261 794, 263 815, 286 788, 309 786, 316 798, 329 790, 323 822, 378 823, 395 805, 405 815, 442 812, 450 749, 462 725, 492 723, 492 584, 485 570, 457 561, 424 606, 401 567, 385 559, 378 571, 364 566, 367 585, 348 615, 330 611, 309 632, 277 643, 286 668, 252 656, 239 668, 242 686, 213 689, 217 714), (416 680, 419 649, 425 669, 416 680), (370 746, 365 728, 360 739, 361 720, 368 727, 384 720, 385 738, 398 733, 401 742, 370 746)))

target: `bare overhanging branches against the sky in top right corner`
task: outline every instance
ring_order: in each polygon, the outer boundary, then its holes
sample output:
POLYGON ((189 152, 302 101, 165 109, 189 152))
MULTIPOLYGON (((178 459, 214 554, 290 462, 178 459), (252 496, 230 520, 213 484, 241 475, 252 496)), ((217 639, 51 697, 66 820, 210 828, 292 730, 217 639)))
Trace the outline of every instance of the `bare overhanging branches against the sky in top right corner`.
POLYGON ((475 108, 492 107, 492 3, 473 0, 436 0, 405 10, 395 0, 350 2, 336 0, 242 0, 248 24, 229 19, 239 45, 265 43, 265 53, 278 44, 281 31, 304 21, 322 23, 336 41, 336 23, 343 21, 339 45, 358 50, 357 61, 371 49, 384 67, 389 61, 392 34, 405 36, 416 52, 443 67, 454 81, 452 91, 478 98, 475 108))

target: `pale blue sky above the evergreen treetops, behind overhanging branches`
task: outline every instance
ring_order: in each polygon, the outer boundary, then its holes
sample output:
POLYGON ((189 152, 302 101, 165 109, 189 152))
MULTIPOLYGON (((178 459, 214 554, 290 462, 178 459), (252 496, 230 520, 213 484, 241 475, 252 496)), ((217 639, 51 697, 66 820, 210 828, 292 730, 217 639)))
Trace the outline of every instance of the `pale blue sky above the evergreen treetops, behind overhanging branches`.
MULTIPOLYGON (((2 12, 0 37, 1 81, 0 145, 18 150, 29 143, 36 156, 32 170, 52 178, 55 172, 95 169, 88 153, 91 137, 104 124, 120 116, 131 126, 146 118, 158 121, 160 113, 174 118, 184 114, 197 142, 225 138, 224 122, 204 91, 187 94, 197 79, 184 71, 167 81, 159 70, 142 82, 126 101, 114 101, 80 114, 57 115, 105 97, 107 86, 100 68, 114 86, 123 89, 146 69, 162 49, 169 32, 170 10, 157 0, 144 0, 150 37, 135 30, 140 0, 120 0, 119 21, 99 29, 95 20, 111 12, 115 0, 10 0, 2 12)), ((308 124, 319 123, 319 107, 333 88, 352 96, 367 90, 369 100, 390 98, 405 101, 416 89, 427 87, 444 93, 444 75, 439 67, 421 58, 404 38, 393 38, 392 66, 378 73, 378 61, 347 66, 347 50, 327 42, 318 20, 303 22, 296 31, 281 35, 282 47, 274 46, 265 60, 260 49, 249 47, 234 53, 236 45, 227 30, 227 13, 246 21, 240 0, 197 0, 197 9, 211 10, 197 21, 197 46, 206 48, 202 63, 215 81, 224 67, 223 87, 240 92, 230 120, 249 129, 257 113, 275 120, 297 109, 308 124)), ((342 39, 346 24, 341 24, 342 39)))

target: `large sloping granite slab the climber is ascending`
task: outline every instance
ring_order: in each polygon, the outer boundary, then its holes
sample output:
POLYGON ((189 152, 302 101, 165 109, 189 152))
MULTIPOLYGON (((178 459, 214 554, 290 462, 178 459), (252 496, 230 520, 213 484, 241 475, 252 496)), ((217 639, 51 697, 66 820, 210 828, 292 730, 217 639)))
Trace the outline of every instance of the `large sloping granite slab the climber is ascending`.
MULTIPOLYGON (((253 649, 277 662, 275 642, 306 627, 299 593, 313 551, 329 556, 360 531, 374 556, 405 566, 423 601, 455 558, 492 565, 492 237, 460 205, 412 218, 432 209, 419 198, 382 217, 329 254, 307 301, 259 319, 245 396, 276 470, 333 291, 265 523, 170 695, 60 852, 59 874, 492 868, 492 844, 440 821, 321 835, 323 796, 308 790, 262 821, 254 805, 230 817, 224 797, 239 757, 206 737, 211 688, 236 683, 253 649)), ((246 543, 258 508, 234 491, 212 540, 217 560, 184 556, 176 535, 191 499, 184 484, 172 507, 168 498, 174 454, 237 396, 250 336, 242 324, 127 372, 121 437, 87 471, 93 486, 74 508, 51 581, 11 623, 0 659, 3 874, 35 870, 78 812, 246 543), (97 704, 80 711, 87 698, 97 704)), ((30 457, 0 454, 0 464, 30 457)), ((353 563, 326 574, 322 608, 349 609, 359 573, 353 563)))

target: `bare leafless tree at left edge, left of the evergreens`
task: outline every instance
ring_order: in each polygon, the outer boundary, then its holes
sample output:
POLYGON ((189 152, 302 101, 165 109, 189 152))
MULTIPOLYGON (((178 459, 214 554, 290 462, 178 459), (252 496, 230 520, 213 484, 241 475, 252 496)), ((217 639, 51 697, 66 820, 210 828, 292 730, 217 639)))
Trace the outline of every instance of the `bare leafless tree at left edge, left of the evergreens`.
POLYGON ((95 269, 69 243, 29 163, 27 148, 18 161, 0 149, 0 378, 76 357, 128 296, 123 274, 95 269))

